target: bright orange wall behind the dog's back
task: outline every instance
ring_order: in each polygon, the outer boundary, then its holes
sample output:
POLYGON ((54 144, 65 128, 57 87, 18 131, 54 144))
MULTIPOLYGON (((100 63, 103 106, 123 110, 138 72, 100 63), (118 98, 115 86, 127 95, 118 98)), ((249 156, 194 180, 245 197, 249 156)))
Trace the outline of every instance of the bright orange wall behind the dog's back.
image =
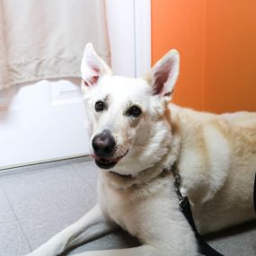
POLYGON ((173 102, 256 110, 256 1, 152 0, 152 62, 181 53, 173 102))

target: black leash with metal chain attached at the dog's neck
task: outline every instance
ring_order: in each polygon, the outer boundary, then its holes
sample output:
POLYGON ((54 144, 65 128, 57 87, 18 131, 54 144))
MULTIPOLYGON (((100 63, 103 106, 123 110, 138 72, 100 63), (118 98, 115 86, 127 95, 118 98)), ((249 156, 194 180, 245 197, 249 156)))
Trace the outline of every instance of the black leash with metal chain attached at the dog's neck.
MULTIPOLYGON (((175 187, 175 192, 180 199, 180 208, 181 212, 184 214, 188 222, 190 223, 191 228, 194 231, 194 234, 196 236, 198 246, 199 246, 199 252, 202 255, 206 256, 224 256, 223 254, 216 252, 215 249, 213 249, 208 243, 204 241, 204 239, 201 237, 199 234, 197 227, 194 222, 194 218, 192 215, 191 207, 190 207, 190 200, 188 197, 183 197, 181 195, 181 176, 178 172, 176 172, 176 164, 172 165, 171 171, 174 177, 174 187, 175 187)), ((169 170, 163 169, 163 172, 168 172, 169 170)), ((253 192, 253 201, 254 201, 254 210, 256 213, 256 173, 255 173, 255 180, 254 180, 254 192, 253 192)))

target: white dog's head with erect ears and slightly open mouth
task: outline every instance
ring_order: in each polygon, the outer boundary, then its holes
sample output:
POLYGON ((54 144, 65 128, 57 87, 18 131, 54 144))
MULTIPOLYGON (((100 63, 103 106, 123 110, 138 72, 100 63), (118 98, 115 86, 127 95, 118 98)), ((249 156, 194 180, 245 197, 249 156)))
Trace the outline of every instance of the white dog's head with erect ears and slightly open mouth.
POLYGON ((87 44, 81 71, 95 163, 136 175, 160 161, 172 139, 166 102, 179 74, 179 53, 168 52, 143 78, 128 78, 112 75, 87 44))

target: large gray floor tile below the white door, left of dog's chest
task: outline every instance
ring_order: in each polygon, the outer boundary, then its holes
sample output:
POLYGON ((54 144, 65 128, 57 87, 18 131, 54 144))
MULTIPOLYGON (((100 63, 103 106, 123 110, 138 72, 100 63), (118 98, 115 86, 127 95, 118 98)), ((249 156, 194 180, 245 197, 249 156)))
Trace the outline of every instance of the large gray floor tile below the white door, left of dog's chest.
POLYGON ((56 210, 87 207, 96 198, 95 191, 69 165, 10 175, 1 181, 20 220, 56 210))

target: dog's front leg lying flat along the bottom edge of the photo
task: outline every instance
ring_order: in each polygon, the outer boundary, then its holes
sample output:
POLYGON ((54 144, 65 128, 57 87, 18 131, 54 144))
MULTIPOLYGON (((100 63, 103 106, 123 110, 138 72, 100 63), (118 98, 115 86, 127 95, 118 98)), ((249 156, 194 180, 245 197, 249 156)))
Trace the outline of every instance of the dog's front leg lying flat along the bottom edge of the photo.
POLYGON ((140 245, 133 248, 88 251, 75 254, 74 256, 170 256, 170 252, 161 252, 156 247, 148 244, 140 245))

